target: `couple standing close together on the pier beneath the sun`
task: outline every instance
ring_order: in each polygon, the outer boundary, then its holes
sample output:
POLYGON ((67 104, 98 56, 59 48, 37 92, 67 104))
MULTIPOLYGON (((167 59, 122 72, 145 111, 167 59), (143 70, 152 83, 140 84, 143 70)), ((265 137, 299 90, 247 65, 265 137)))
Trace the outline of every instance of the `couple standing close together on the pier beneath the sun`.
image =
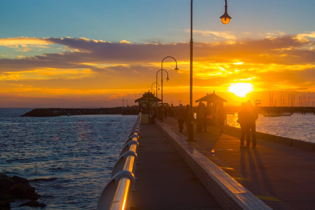
POLYGON ((241 148, 248 148, 250 146, 250 131, 252 131, 252 147, 256 148, 256 120, 258 113, 251 105, 250 100, 242 103, 241 111, 238 112, 237 122, 241 126, 241 148), (246 146, 244 139, 246 136, 246 146))

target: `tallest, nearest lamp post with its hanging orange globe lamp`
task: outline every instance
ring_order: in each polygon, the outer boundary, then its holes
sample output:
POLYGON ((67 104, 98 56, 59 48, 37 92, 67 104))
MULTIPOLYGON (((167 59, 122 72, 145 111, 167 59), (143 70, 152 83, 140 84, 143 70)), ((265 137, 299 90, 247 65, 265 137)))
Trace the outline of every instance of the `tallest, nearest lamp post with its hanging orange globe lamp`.
MULTIPOLYGON (((228 14, 227 14, 227 2, 225 0, 225 13, 220 17, 221 22, 223 24, 228 24, 230 22, 230 19, 232 19, 228 14)), ((190 3, 190 97, 189 97, 189 102, 190 102, 190 107, 189 107, 189 112, 188 112, 188 117, 189 117, 189 132, 188 132, 188 139, 187 141, 196 141, 193 137, 193 117, 194 113, 192 111, 192 0, 190 3)))

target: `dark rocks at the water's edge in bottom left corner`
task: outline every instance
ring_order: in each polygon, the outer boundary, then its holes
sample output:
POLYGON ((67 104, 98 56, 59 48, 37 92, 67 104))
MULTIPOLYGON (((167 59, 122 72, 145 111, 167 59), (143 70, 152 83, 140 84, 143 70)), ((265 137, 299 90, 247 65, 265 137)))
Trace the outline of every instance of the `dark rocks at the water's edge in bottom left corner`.
POLYGON ((44 203, 36 201, 39 197, 27 179, 18 176, 8 177, 0 173, 0 209, 10 209, 11 202, 15 199, 30 200, 20 206, 45 207, 44 203))

